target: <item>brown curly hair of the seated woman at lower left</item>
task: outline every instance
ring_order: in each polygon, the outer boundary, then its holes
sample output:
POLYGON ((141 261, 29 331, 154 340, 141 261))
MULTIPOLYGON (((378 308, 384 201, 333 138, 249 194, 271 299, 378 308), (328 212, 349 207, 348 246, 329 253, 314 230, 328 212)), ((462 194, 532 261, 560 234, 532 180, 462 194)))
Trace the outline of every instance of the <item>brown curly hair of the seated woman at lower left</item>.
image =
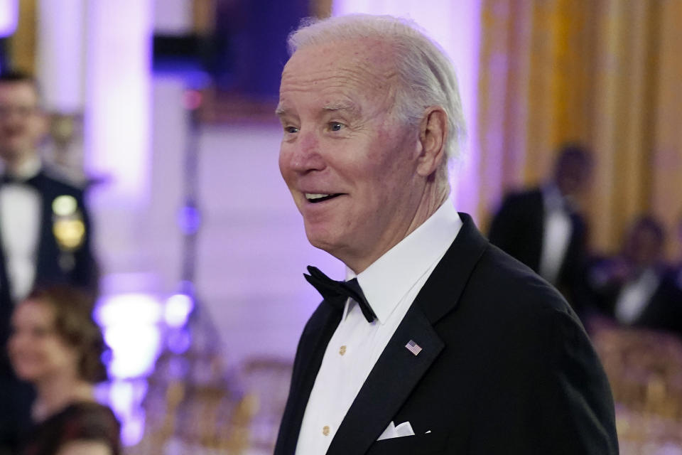
POLYGON ((26 300, 40 301, 53 309, 55 332, 79 354, 78 373, 88 382, 107 380, 102 354, 108 350, 102 331, 92 318, 94 299, 75 287, 52 285, 34 289, 26 300))

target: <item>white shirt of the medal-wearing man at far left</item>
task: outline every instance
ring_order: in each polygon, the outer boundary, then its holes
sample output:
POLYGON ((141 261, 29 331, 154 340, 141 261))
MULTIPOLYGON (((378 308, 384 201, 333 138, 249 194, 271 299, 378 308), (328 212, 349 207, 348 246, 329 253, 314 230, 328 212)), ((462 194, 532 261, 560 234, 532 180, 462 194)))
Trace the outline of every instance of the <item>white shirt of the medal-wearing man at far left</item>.
MULTIPOLYGON (((38 172, 40 160, 36 158, 24 163, 13 175, 28 180, 38 172)), ((23 299, 31 291, 36 277, 40 202, 35 188, 19 183, 0 187, 0 240, 13 301, 23 299)))

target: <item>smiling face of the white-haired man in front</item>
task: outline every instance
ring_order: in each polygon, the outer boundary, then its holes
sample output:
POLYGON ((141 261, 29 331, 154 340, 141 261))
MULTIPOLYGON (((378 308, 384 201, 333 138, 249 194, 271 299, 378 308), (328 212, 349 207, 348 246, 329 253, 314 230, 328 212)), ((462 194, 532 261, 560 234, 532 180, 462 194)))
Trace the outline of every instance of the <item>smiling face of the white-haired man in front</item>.
POLYGON ((389 55, 361 41, 302 48, 280 87, 279 167, 308 240, 357 273, 407 235, 423 196, 389 55))

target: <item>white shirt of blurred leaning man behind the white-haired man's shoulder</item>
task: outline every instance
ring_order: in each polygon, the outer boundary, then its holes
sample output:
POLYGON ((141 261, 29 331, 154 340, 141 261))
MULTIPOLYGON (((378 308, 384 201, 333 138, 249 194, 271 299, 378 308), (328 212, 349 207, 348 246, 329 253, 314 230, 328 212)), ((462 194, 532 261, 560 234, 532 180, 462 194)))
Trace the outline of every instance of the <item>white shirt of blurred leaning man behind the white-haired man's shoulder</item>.
POLYGON ((542 199, 545 219, 538 274, 548 282, 556 284, 568 250, 573 225, 570 223, 570 214, 556 186, 543 188, 542 199))

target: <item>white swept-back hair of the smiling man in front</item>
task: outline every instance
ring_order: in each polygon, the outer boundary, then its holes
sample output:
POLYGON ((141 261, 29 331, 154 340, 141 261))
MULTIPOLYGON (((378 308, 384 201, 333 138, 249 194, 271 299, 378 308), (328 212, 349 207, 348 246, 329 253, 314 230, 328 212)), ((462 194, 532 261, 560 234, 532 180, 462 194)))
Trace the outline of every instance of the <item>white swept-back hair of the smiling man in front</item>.
POLYGON ((425 109, 440 106, 448 115, 445 154, 460 156, 466 136, 457 75, 440 46, 431 41, 414 22, 394 16, 350 14, 317 20, 307 18, 288 38, 289 52, 310 45, 377 38, 394 47, 396 109, 401 120, 410 125, 421 122, 425 109))

